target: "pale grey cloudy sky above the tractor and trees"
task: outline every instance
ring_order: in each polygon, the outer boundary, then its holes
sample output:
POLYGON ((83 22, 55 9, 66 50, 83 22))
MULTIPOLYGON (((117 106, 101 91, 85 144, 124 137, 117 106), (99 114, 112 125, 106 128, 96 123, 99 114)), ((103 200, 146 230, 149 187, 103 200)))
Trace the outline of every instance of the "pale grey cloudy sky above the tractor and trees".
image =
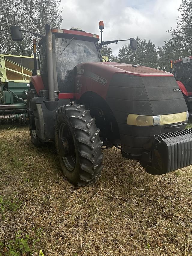
MULTIPOLYGON (((176 27, 180 3, 181 0, 61 0, 61 27, 78 27, 100 35, 98 24, 103 20, 103 41, 138 36, 161 46, 170 38, 166 31, 176 27)), ((110 44, 113 53, 118 53, 123 44, 110 44)))

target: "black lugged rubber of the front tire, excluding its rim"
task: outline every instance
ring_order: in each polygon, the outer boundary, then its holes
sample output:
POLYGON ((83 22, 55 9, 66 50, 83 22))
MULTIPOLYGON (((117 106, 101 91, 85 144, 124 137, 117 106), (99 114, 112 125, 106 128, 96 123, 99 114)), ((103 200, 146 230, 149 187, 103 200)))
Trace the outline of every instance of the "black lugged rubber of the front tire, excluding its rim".
MULTIPOLYGON (((58 127, 62 120, 63 122, 66 121, 71 126, 79 155, 78 177, 67 177, 68 174, 65 170, 64 173, 67 179, 78 186, 95 182, 103 168, 101 164, 103 158, 101 147, 103 142, 99 137, 100 130, 95 125, 95 118, 91 117, 90 110, 86 110, 85 106, 72 104, 58 108, 55 126, 58 127)), ((58 149, 57 145, 56 147, 58 149)))

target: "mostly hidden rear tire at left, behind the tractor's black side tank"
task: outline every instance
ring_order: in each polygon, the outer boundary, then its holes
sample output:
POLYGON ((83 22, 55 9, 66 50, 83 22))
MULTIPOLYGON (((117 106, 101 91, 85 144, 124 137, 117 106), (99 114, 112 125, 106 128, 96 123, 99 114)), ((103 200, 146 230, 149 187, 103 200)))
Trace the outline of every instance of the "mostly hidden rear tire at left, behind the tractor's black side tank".
MULTIPOLYGON (((27 93, 27 107, 29 109, 31 109, 31 100, 32 98, 34 97, 38 97, 39 95, 37 94, 36 90, 35 89, 29 89, 28 93, 27 93)), ((31 125, 30 125, 30 122, 29 122, 29 132, 30 132, 30 135, 31 135, 31 141, 32 143, 35 145, 35 146, 40 146, 41 145, 41 142, 36 134, 36 130, 32 130, 31 129, 31 125)))

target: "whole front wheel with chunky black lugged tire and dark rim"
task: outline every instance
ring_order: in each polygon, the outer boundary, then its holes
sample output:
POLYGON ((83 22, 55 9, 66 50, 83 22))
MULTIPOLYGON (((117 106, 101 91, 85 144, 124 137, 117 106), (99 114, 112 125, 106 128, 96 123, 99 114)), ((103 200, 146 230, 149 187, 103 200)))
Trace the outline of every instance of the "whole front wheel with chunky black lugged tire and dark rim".
POLYGON ((55 118, 55 145, 62 171, 76 186, 95 182, 103 169, 99 129, 85 106, 58 108, 55 118))

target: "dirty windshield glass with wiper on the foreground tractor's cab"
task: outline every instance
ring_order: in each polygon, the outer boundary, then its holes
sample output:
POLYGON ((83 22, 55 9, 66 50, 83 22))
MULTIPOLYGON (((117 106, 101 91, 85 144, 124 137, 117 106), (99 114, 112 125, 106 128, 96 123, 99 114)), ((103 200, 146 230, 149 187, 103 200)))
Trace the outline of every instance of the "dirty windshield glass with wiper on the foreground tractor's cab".
POLYGON ((57 78, 60 92, 73 90, 74 67, 83 62, 101 62, 97 42, 83 41, 74 36, 55 38, 57 78))

